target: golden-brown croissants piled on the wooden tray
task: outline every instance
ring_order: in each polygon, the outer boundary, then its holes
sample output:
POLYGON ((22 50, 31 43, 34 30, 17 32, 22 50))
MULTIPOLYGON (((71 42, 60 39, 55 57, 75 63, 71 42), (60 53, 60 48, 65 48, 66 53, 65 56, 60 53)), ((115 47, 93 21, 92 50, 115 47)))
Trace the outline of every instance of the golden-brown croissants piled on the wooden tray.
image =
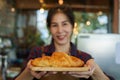
POLYGON ((51 56, 35 58, 31 64, 37 67, 81 67, 84 62, 64 52, 54 52, 51 56))

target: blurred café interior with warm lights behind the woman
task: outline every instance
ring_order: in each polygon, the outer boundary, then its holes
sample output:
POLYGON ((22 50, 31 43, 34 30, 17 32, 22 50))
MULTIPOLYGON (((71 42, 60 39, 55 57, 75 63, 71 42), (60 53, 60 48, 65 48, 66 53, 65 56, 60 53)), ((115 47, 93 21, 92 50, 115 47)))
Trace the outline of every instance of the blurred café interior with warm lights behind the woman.
POLYGON ((120 0, 0 0, 0 80, 13 80, 34 46, 48 45, 48 10, 67 4, 75 14, 72 42, 120 80, 120 0))

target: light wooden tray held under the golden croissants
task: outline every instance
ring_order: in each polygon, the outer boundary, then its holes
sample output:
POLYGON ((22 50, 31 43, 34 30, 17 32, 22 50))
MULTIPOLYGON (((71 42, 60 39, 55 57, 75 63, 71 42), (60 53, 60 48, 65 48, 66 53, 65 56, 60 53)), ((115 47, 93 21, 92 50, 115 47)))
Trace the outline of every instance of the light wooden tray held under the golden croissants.
POLYGON ((31 67, 33 71, 88 71, 89 67, 31 67))

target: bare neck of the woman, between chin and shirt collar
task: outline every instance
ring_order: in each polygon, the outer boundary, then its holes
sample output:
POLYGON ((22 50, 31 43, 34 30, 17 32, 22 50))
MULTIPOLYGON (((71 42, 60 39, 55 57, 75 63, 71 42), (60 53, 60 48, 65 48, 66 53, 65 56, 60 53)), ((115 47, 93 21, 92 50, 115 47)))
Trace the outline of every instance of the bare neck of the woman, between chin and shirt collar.
POLYGON ((70 51, 70 43, 65 45, 58 45, 55 43, 55 51, 56 52, 65 52, 69 54, 70 51))

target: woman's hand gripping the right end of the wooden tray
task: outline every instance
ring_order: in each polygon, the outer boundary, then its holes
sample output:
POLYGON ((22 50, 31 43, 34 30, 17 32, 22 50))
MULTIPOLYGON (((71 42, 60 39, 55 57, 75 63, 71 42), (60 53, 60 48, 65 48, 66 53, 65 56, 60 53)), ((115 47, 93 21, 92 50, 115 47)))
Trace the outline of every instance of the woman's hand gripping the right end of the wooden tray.
MULTIPOLYGON (((86 71, 86 72, 68 72, 67 74, 70 74, 71 76, 74 76, 74 77, 78 77, 78 78, 89 78, 94 70, 95 70, 95 66, 94 64, 92 64, 92 61, 88 61, 85 66, 88 66, 90 67, 89 71, 86 71)), ((65 73, 64 73, 65 74, 65 73)))

